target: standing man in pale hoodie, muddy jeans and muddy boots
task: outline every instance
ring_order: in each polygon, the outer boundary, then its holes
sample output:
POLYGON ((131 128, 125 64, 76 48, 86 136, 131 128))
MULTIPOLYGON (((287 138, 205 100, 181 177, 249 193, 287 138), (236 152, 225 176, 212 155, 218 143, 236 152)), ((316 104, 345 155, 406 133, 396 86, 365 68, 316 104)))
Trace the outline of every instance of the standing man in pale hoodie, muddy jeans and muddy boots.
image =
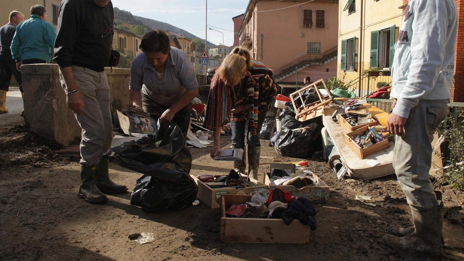
POLYGON ((385 235, 394 248, 441 254, 443 202, 429 181, 432 136, 448 114, 458 16, 455 0, 410 0, 395 46, 395 98, 388 130, 396 134, 393 167, 414 227, 385 235))

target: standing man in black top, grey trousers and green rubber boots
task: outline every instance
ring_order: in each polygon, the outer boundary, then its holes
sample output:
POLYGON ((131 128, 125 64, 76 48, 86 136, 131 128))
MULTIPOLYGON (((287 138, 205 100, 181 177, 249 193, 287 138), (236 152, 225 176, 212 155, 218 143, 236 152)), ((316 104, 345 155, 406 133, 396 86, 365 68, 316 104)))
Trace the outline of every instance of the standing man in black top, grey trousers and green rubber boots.
POLYGON ((102 193, 125 193, 127 187, 108 176, 113 124, 110 87, 104 72, 109 65, 113 37, 111 0, 63 0, 58 10, 55 57, 66 103, 82 128, 81 186, 78 196, 104 202, 102 193))

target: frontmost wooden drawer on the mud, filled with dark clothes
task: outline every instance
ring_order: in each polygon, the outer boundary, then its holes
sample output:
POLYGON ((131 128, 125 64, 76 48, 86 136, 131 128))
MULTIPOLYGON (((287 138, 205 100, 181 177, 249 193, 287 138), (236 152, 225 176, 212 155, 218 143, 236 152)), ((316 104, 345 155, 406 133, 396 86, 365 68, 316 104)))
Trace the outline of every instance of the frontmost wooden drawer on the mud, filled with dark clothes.
POLYGON ((226 217, 226 205, 243 204, 250 195, 221 195, 221 227, 219 239, 223 242, 243 243, 309 243, 309 226, 294 220, 285 225, 274 218, 226 217))

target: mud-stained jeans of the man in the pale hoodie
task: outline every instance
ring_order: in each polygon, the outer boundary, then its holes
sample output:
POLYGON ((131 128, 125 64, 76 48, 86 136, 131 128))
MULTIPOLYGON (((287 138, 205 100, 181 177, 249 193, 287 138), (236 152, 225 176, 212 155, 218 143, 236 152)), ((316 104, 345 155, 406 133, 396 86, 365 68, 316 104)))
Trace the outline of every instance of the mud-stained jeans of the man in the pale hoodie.
POLYGON ((405 137, 395 136, 393 168, 408 204, 418 210, 437 206, 429 180, 432 140, 438 125, 448 115, 448 100, 422 100, 406 121, 405 137))

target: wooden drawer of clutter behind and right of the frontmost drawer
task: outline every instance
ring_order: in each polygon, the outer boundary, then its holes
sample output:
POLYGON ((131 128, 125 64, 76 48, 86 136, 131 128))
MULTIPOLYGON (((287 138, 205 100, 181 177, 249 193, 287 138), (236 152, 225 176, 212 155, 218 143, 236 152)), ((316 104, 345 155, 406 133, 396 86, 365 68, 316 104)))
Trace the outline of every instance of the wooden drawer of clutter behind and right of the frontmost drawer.
POLYGON ((289 192, 291 196, 305 197, 309 199, 311 203, 328 203, 330 187, 327 186, 316 174, 310 174, 310 176, 316 179, 316 184, 313 183, 309 186, 304 186, 301 189, 297 189, 295 186, 273 185, 267 175, 264 175, 264 183, 269 186, 269 189, 282 187, 284 191, 289 192))

